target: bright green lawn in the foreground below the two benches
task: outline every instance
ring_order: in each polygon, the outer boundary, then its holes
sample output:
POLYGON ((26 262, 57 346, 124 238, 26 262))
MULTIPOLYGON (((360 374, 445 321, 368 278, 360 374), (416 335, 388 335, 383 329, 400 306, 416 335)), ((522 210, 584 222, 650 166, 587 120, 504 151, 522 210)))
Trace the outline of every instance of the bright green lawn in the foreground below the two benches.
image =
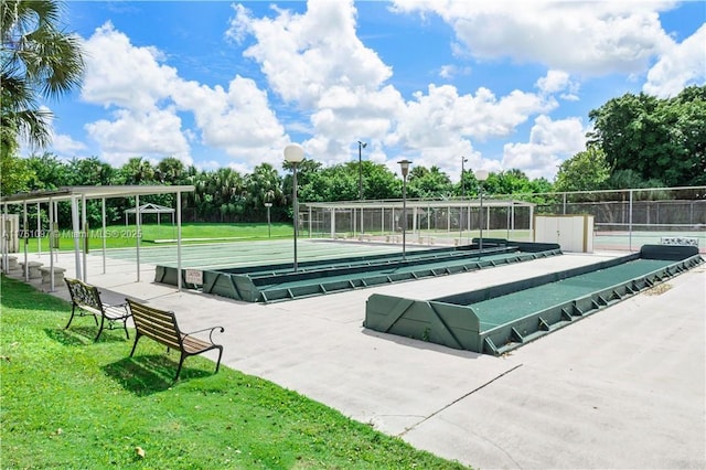
POLYGON ((94 343, 90 318, 64 330, 67 302, 1 280, 2 468, 464 468, 204 357, 172 383, 175 354, 143 339, 129 357, 119 329, 94 343))

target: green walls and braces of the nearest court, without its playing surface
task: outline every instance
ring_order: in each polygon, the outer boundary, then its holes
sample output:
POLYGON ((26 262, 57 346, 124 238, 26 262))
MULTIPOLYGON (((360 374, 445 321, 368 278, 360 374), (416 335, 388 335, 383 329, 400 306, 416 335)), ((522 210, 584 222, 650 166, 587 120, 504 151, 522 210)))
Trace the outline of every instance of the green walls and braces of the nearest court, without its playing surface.
POLYGON ((501 355, 702 263, 704 260, 696 247, 645 245, 640 253, 608 261, 431 300, 375 293, 366 302, 364 325, 375 331, 449 348, 501 355), (608 288, 597 289, 589 295, 560 301, 548 308, 533 311, 531 305, 523 306, 523 312, 502 324, 484 323, 484 317, 479 311, 478 306, 483 301, 552 282, 566 281, 585 274, 601 271, 601 276, 607 275, 611 269, 637 259, 670 263, 659 269, 623 279, 608 288))

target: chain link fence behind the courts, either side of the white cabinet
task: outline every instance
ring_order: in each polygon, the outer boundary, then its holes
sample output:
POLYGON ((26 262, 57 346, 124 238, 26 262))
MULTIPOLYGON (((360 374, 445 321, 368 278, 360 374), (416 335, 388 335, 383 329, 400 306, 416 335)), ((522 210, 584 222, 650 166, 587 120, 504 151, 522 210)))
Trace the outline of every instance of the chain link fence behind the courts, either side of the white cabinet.
POLYGON ((483 200, 302 203, 302 235, 324 238, 458 244, 472 237, 534 239, 536 215, 591 215, 595 249, 637 250, 688 238, 706 250, 706 186, 501 194, 483 200))

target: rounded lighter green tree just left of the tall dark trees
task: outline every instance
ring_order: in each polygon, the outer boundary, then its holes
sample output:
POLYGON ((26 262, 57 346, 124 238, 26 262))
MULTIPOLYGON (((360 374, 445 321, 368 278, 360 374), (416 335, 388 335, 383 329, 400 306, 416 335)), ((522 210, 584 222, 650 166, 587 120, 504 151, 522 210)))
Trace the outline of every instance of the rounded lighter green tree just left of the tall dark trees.
POLYGON ((606 152, 596 146, 564 160, 556 174, 554 190, 595 191, 605 188, 610 178, 610 167, 606 161, 606 152))

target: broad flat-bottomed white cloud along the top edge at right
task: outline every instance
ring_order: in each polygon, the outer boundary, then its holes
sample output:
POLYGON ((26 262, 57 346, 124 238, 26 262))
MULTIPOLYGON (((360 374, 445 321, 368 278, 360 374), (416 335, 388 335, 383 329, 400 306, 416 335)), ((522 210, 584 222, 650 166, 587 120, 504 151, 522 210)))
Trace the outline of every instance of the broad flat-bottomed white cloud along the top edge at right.
POLYGON ((586 75, 643 73, 668 46, 659 12, 675 1, 396 0, 400 12, 435 12, 481 60, 510 57, 586 75))

